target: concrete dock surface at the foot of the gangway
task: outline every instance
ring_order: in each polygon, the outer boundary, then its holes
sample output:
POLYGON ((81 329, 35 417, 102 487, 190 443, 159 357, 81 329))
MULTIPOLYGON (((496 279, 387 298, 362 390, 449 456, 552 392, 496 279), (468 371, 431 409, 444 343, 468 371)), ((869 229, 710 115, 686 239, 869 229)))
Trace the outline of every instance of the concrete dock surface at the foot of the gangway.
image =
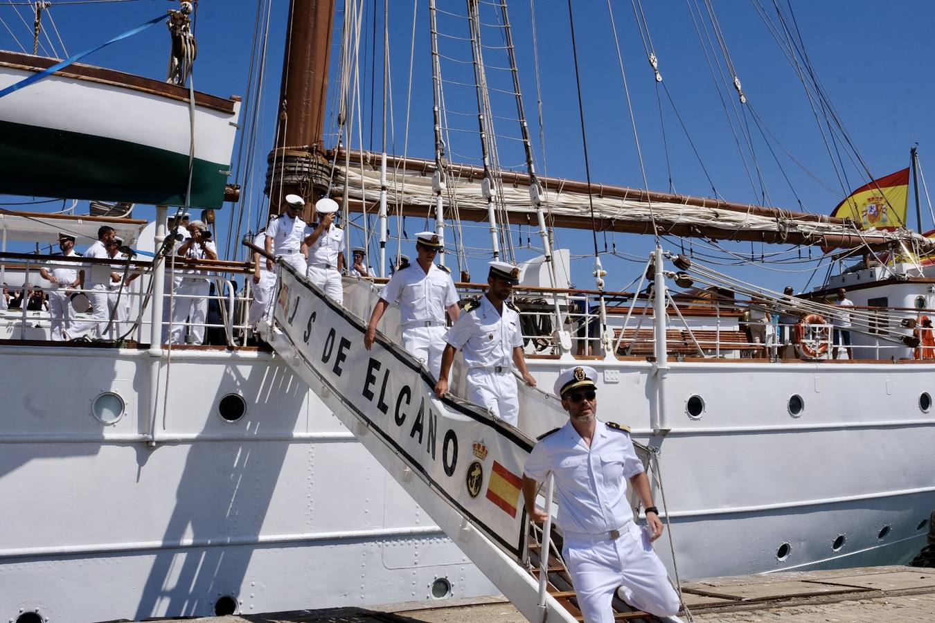
MULTIPOLYGON (((695 621, 730 623, 876 623, 935 621, 935 569, 890 566, 836 571, 771 573, 683 582, 695 621)), ((502 599, 396 604, 384 608, 302 610, 198 619, 211 623, 522 623, 502 599)), ((681 614, 684 621, 688 617, 681 614)), ((627 617, 630 618, 630 617, 627 617)), ((191 619, 189 619, 191 620, 191 619)), ((621 619, 623 620, 623 619, 621 619)), ((645 619, 639 619, 645 620, 645 619)))

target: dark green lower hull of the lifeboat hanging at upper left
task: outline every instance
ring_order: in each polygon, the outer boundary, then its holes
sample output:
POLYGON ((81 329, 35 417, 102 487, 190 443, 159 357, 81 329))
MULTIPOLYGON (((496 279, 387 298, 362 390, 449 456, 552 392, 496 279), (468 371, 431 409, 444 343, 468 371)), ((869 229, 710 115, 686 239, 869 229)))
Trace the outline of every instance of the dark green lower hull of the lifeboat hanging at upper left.
MULTIPOLYGON (((227 169, 195 159, 193 207, 221 207, 227 169)), ((0 120, 0 193, 184 205, 187 182, 184 154, 0 120)))

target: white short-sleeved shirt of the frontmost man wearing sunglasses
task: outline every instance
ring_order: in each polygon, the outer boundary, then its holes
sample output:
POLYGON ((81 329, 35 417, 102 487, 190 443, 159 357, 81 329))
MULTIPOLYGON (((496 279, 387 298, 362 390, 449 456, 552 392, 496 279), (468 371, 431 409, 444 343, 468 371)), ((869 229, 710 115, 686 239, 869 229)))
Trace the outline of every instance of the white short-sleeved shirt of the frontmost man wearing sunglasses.
POLYGON ((588 447, 569 419, 536 444, 523 472, 539 481, 554 474, 563 531, 597 535, 633 520, 626 479, 643 472, 643 466, 628 432, 598 420, 588 447))

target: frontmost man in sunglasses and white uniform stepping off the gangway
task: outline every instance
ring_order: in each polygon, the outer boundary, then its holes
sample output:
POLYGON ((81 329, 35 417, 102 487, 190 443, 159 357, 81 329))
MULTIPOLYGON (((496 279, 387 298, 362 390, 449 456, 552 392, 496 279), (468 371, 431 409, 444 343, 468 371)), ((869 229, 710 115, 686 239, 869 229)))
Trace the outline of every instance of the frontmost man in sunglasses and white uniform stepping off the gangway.
POLYGON ((597 371, 587 366, 558 375, 554 391, 568 411, 568 423, 540 436, 526 460, 526 513, 538 523, 545 520, 545 513, 536 507, 536 492, 539 481, 554 474, 557 522, 564 536, 562 556, 587 623, 613 622, 614 594, 654 616, 675 616, 678 593, 653 551, 652 542, 662 534, 663 525, 649 478, 629 429, 596 418, 596 381, 597 371), (644 529, 633 521, 624 478, 646 508, 644 529))

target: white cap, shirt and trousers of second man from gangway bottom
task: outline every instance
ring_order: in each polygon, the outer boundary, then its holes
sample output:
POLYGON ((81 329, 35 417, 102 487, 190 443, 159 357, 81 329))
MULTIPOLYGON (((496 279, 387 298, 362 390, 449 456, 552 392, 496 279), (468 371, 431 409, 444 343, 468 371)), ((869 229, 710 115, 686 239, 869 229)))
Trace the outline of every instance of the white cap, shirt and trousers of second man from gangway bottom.
MULTIPOLYGON (((506 262, 490 262, 490 266, 491 275, 511 279, 514 284, 519 282, 519 269, 515 266, 506 262)), ((464 313, 448 332, 447 341, 464 349, 468 400, 516 426, 520 405, 513 376, 513 348, 523 346, 516 308, 504 303, 501 316, 484 295, 480 301, 465 305, 464 313)))

